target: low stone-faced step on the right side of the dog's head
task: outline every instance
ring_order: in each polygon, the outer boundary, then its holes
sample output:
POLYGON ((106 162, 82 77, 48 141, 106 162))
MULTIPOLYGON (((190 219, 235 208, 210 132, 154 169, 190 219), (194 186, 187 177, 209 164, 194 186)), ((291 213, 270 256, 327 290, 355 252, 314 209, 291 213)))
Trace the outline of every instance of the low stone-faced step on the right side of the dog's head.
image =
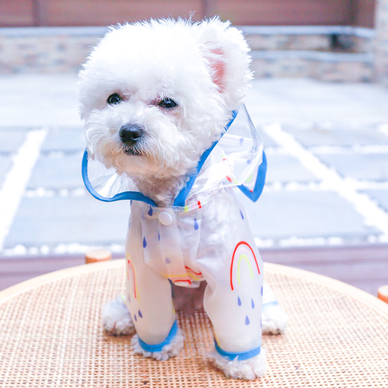
POLYGON ((247 26, 252 69, 261 77, 372 81, 374 31, 350 26, 247 26))

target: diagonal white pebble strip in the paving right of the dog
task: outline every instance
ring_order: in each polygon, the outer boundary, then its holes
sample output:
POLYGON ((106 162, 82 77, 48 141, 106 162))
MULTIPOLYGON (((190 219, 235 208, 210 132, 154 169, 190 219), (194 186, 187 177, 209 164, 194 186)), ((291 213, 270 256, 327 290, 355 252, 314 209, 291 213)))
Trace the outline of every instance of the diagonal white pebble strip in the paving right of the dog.
POLYGON ((322 180, 321 187, 332 190, 351 203, 364 218, 365 224, 374 226, 383 232, 381 241, 388 241, 388 212, 381 209, 367 194, 359 193, 354 181, 342 178, 334 168, 323 164, 318 157, 298 143, 295 138, 281 128, 280 123, 273 123, 263 128, 280 146, 297 158, 304 167, 322 180))

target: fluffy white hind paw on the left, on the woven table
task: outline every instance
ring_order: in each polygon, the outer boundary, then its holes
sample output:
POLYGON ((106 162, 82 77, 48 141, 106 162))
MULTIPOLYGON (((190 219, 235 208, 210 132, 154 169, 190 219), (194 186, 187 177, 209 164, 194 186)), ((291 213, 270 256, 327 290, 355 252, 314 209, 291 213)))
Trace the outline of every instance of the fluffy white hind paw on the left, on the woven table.
POLYGON ((121 295, 102 307, 101 319, 105 331, 112 336, 123 336, 135 332, 129 310, 121 295))

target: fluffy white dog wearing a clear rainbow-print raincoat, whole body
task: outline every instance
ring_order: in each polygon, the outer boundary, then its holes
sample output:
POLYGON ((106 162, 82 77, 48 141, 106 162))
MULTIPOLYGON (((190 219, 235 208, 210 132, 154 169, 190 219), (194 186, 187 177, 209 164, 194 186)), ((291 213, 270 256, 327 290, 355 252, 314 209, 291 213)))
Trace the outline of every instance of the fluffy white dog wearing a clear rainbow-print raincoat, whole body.
POLYGON ((265 177, 242 105, 248 51, 242 33, 218 18, 124 24, 92 51, 79 86, 85 184, 101 200, 132 199, 127 293, 104 308, 105 329, 136 330, 135 353, 176 356, 183 337, 172 285, 177 308, 192 303, 187 288, 205 290, 210 359, 226 376, 253 379, 265 370, 261 324, 278 333, 287 319, 269 291, 261 322, 262 261, 231 190, 256 200, 265 177), (93 173, 96 162, 112 171, 93 173))

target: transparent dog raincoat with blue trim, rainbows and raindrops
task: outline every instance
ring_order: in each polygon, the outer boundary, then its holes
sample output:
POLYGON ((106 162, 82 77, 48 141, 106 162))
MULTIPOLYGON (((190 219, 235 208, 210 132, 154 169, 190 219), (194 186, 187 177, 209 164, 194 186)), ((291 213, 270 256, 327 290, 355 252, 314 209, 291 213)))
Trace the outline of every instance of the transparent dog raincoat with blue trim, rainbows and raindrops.
POLYGON ((158 208, 129 177, 88 161, 85 151, 89 192, 107 202, 131 200, 126 304, 146 351, 160 351, 177 332, 171 283, 197 287, 206 280, 204 307, 217 351, 230 359, 260 353, 262 260, 232 188, 256 201, 265 173, 263 146, 244 105, 169 208, 158 208))

